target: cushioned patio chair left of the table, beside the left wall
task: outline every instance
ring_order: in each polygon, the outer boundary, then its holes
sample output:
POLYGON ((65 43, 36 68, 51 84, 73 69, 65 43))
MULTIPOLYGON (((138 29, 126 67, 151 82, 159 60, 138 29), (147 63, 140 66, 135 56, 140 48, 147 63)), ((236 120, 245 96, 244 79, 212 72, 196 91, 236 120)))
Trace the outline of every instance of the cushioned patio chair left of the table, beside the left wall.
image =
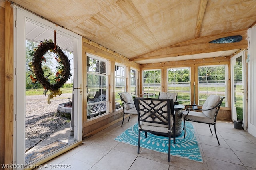
POLYGON ((128 119, 128 122, 129 122, 131 114, 137 115, 137 110, 135 108, 134 101, 130 93, 122 92, 122 93, 118 93, 118 95, 120 96, 122 106, 123 106, 123 121, 121 125, 122 127, 124 123, 124 115, 129 114, 129 119, 128 119))

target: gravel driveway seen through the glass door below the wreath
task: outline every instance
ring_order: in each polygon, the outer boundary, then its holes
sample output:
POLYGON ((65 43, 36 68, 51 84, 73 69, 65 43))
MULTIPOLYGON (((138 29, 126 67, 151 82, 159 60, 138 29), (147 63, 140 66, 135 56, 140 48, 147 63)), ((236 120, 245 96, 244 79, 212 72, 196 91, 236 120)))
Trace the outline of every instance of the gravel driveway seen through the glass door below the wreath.
POLYGON ((47 103, 48 95, 26 96, 26 140, 50 136, 69 121, 66 117, 56 115, 58 105, 72 99, 72 93, 62 94, 47 103))

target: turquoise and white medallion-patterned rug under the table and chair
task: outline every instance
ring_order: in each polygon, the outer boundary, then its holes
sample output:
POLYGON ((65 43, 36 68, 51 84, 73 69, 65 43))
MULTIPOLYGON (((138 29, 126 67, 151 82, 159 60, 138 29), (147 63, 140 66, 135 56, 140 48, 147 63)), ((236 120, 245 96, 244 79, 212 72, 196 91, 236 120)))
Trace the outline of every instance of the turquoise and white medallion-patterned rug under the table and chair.
MULTIPOLYGON (((136 123, 122 132, 114 140, 138 146, 138 132, 138 123, 136 123)), ((140 137, 140 147, 168 154, 168 137, 148 133, 148 138, 145 138, 144 132, 141 132, 140 137)), ((186 122, 185 139, 183 130, 182 134, 176 137, 175 144, 173 143, 173 138, 171 139, 171 155, 203 162, 192 123, 186 122)))

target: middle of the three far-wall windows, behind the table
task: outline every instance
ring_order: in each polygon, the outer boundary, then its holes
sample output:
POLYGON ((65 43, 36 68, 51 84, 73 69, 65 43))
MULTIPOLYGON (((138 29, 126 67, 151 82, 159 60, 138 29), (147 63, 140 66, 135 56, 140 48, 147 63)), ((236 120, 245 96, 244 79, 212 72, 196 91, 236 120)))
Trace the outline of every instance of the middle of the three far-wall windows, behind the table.
POLYGON ((177 102, 190 105, 190 68, 168 69, 168 92, 177 92, 177 102))

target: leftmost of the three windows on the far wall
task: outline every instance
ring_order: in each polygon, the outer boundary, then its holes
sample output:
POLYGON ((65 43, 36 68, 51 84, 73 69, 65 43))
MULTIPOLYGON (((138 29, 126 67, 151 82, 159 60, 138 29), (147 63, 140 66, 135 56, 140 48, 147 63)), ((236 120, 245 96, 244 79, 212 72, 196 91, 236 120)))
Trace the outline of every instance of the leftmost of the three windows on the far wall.
POLYGON ((158 98, 161 91, 161 70, 144 70, 142 93, 147 97, 158 98))

